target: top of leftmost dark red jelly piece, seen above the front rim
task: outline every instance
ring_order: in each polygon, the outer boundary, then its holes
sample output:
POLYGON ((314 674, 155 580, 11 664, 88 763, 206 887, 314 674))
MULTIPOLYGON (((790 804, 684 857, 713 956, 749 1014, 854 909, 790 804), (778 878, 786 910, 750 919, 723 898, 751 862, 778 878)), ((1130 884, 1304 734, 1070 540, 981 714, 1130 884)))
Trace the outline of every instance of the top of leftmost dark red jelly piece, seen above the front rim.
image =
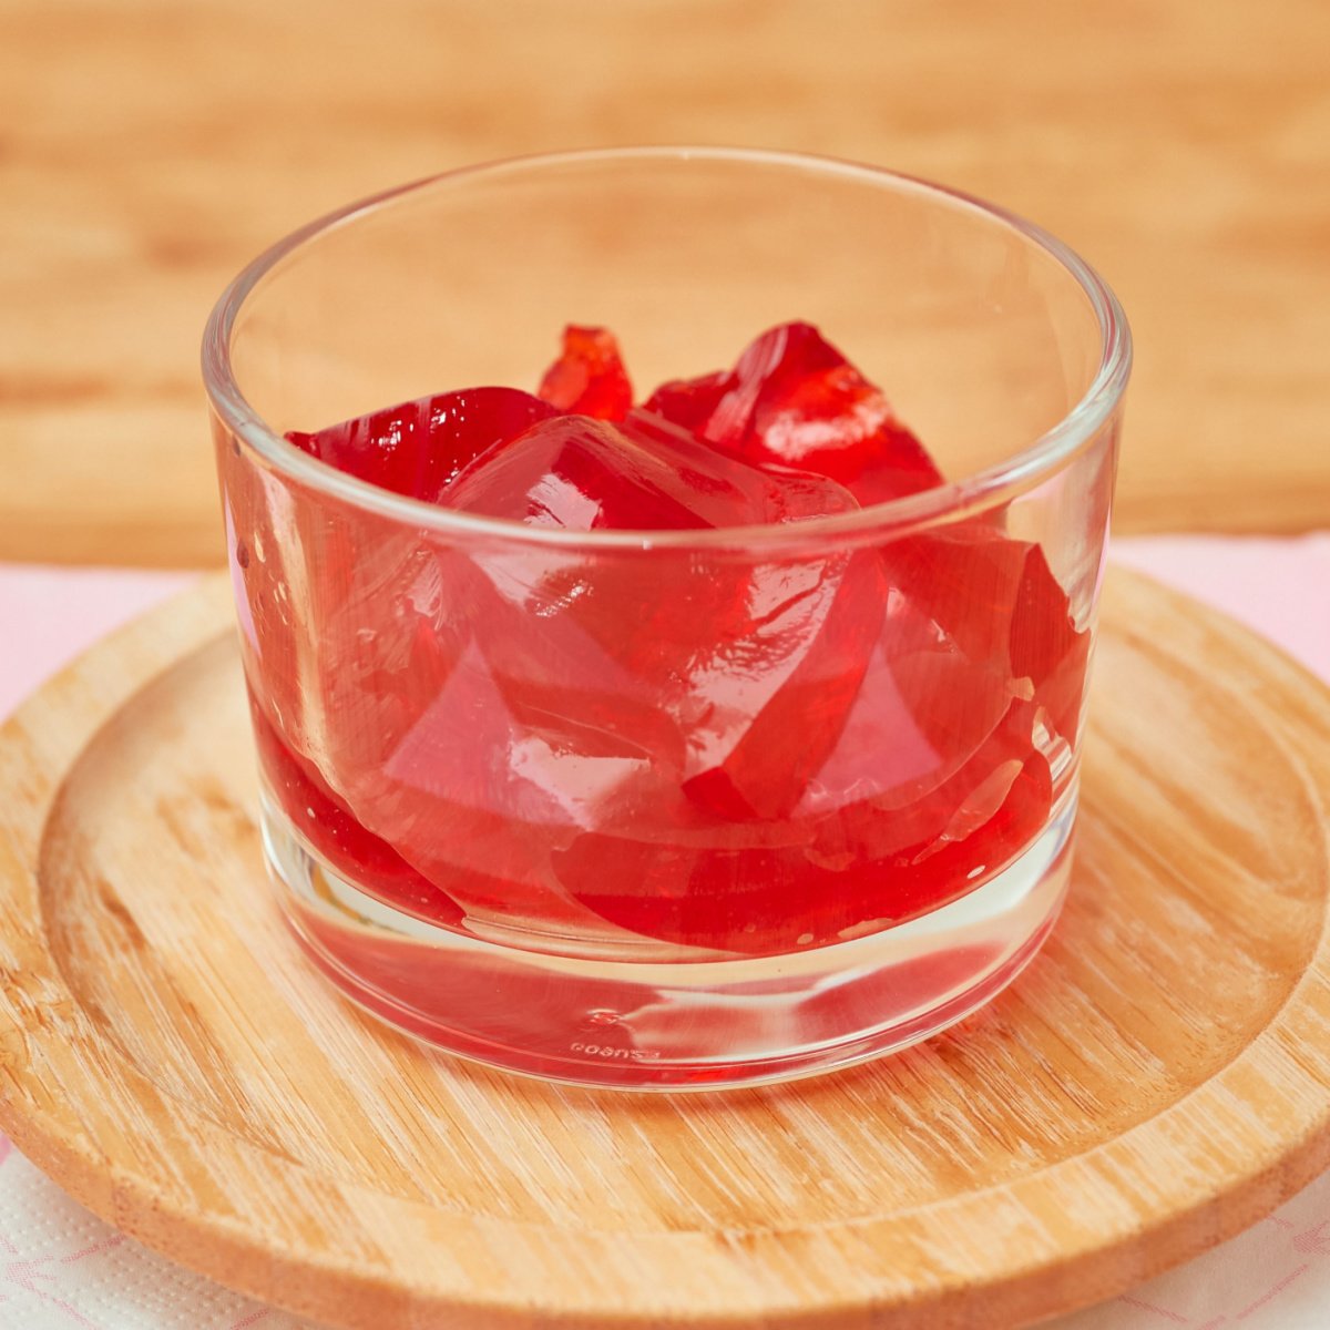
POLYGON ((466 388, 418 398, 372 415, 287 439, 338 471, 434 503, 487 448, 521 434, 555 408, 516 388, 466 388))

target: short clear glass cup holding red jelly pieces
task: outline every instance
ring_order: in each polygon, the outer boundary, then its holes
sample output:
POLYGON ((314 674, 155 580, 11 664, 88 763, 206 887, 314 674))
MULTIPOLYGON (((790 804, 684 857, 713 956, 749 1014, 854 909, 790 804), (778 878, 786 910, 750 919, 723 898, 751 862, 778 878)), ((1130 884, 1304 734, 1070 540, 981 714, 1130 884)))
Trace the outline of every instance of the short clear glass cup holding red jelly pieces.
POLYGON ((1037 227, 777 153, 501 162, 269 250, 203 374, 265 846, 310 959, 444 1049, 598 1085, 805 1075, 975 1011, 1067 886, 1129 362, 1112 293, 1037 227), (946 483, 580 532, 285 438, 533 390, 567 323, 613 330, 646 388, 791 321, 946 483))

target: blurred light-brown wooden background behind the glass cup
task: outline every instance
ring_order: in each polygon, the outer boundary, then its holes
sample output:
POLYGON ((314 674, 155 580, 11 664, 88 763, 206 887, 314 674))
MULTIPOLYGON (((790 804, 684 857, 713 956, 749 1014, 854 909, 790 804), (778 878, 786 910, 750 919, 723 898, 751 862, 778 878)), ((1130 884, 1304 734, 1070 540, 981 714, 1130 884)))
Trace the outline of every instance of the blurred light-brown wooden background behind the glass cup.
POLYGON ((402 181, 624 142, 1041 222, 1136 331, 1119 529, 1330 525, 1326 0, 0 0, 0 559, 215 560, 234 271, 402 181))

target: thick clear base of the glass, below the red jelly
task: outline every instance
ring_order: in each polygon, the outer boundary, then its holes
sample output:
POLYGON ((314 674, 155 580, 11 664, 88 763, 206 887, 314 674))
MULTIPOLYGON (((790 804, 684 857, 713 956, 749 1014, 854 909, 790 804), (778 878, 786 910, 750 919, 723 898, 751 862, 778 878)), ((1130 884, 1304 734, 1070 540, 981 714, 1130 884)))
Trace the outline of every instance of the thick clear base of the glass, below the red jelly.
POLYGON ((402 914, 323 863, 267 799, 263 843, 301 946, 372 1015, 511 1072, 681 1091, 846 1067, 984 1005, 1057 919, 1075 817, 1072 785, 1020 858, 922 918, 793 955, 680 963, 547 955, 402 914))

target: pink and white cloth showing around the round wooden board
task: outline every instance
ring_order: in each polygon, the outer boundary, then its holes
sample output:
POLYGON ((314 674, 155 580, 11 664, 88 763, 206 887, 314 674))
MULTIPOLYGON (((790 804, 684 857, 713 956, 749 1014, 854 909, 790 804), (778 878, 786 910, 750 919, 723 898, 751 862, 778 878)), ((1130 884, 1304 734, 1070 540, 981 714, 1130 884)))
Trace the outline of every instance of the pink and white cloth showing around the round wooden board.
MULTIPOLYGON (((1330 535, 1158 536, 1117 541, 1115 557, 1244 620, 1330 681, 1330 535)), ((0 565, 0 716, 192 576, 0 565)), ((1330 1173, 1214 1252, 1048 1330, 1326 1330, 1327 1309, 1330 1173)), ((76 1326, 301 1330, 117 1234, 0 1136, 0 1330, 76 1326)))

